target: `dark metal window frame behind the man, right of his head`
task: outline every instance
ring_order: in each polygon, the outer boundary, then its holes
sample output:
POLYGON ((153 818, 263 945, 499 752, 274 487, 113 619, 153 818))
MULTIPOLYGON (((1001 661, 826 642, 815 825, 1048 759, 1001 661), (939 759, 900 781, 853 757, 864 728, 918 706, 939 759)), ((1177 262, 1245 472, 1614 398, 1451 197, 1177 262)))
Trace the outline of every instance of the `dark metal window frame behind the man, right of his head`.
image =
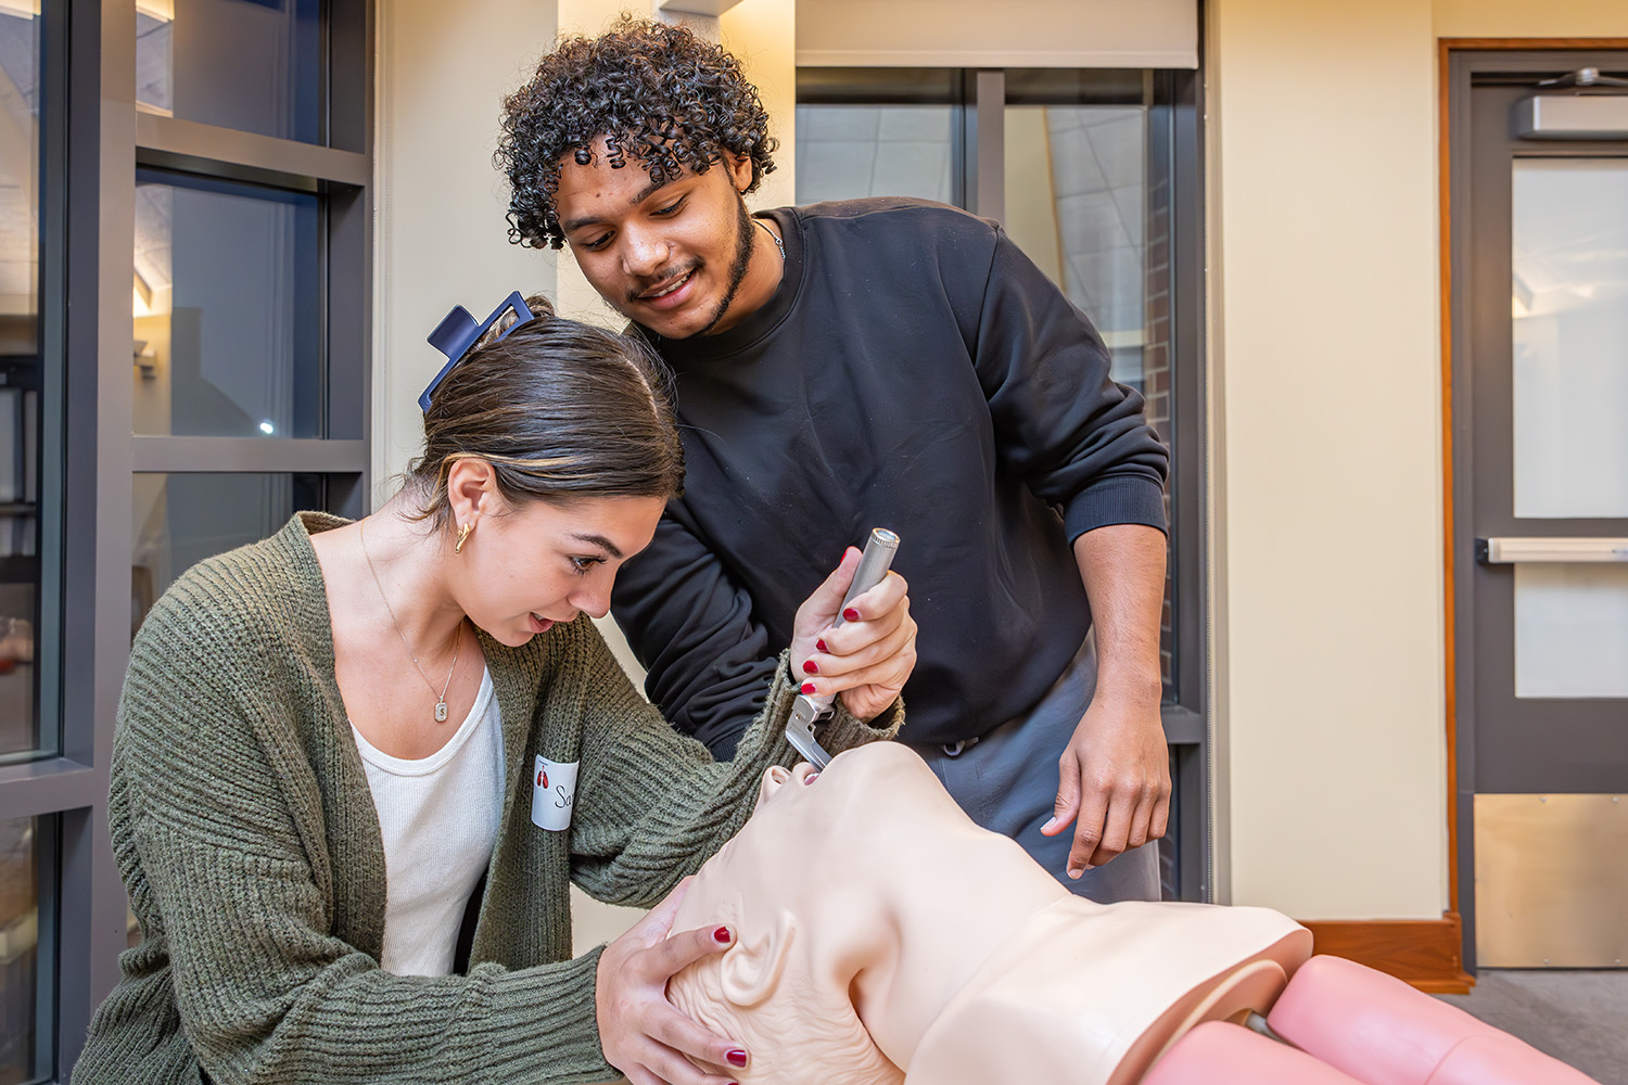
MULTIPOLYGON (((1050 73, 1061 76, 1063 73, 1050 73)), ((1198 72, 1102 70, 1073 73, 1071 98, 1057 101, 1148 104, 1148 146, 1171 171, 1171 426, 1172 524, 1171 608, 1175 667, 1166 690, 1164 734, 1171 743, 1174 875, 1182 900, 1214 896, 1211 804, 1211 712, 1208 660, 1210 488, 1205 389, 1205 203, 1203 80, 1198 72), (1096 94, 1092 94, 1096 86, 1096 94)), ((1006 203, 1006 106, 1055 104, 1042 88, 1008 94, 1009 81, 1047 83, 1016 70, 799 68, 798 104, 947 104, 952 117, 951 202, 1003 218, 1006 203), (1011 78, 1009 78, 1011 76, 1011 78)), ((1063 83, 1066 80, 1053 80, 1063 83)))

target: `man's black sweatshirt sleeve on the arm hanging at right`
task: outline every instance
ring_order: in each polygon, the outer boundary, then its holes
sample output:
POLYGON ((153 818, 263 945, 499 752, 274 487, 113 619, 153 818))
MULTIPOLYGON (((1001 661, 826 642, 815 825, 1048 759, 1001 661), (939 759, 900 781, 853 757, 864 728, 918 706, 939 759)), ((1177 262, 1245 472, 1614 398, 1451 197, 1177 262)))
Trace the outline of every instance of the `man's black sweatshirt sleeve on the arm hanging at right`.
POLYGON ((1000 228, 977 324, 962 333, 1001 455, 1063 511, 1070 543, 1109 524, 1166 530, 1169 451, 1143 397, 1114 382, 1091 320, 1000 228))

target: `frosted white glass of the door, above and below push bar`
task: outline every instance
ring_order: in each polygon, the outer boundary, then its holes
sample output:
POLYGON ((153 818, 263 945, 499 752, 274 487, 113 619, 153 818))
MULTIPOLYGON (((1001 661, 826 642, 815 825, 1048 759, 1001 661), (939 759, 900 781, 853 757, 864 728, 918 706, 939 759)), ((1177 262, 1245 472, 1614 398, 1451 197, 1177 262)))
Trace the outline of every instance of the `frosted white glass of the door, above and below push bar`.
MULTIPOLYGON (((1511 163, 1514 516, 1628 516, 1628 159, 1511 163)), ((1628 566, 1524 564, 1517 698, 1628 696, 1628 566)))

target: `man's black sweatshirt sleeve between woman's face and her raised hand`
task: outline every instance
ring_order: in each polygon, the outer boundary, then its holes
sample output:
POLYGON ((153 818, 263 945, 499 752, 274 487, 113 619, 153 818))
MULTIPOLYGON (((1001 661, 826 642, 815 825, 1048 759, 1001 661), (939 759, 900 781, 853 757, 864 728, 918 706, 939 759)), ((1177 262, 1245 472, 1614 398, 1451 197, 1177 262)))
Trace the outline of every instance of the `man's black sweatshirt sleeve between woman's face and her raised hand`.
POLYGON ((775 677, 768 631, 723 560, 667 506, 656 537, 617 573, 612 613, 646 673, 645 695, 720 760, 734 756, 775 677))

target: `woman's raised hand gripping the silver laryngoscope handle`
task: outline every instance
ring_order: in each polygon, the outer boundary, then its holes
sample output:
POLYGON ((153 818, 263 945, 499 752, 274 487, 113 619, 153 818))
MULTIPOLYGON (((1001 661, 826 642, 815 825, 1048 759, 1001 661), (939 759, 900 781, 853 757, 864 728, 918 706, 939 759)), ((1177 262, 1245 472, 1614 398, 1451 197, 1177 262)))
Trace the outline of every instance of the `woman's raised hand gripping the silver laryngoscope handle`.
POLYGON ((915 618, 910 586, 889 571, 842 615, 842 597, 860 568, 860 551, 848 547, 842 564, 814 589, 791 628, 791 670, 803 691, 837 693, 858 719, 874 719, 894 703, 915 670, 915 618))

